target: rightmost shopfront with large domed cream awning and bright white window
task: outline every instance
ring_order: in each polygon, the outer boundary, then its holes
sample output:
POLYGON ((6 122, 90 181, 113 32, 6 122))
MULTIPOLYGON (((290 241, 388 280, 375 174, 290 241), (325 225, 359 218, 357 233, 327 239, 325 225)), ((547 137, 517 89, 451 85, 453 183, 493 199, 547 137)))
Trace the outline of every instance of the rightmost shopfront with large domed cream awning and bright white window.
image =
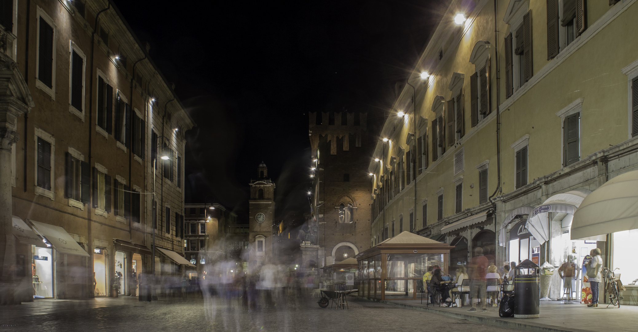
MULTIPOLYGON (((609 252, 603 253, 605 266, 620 273, 627 291, 621 303, 638 305, 638 170, 613 177, 590 193, 574 213, 571 239, 609 238, 609 252)), ((574 241, 574 240, 572 240, 574 241)), ((600 248, 600 243, 598 243, 600 248)), ((601 295, 602 299, 602 295, 601 295)))

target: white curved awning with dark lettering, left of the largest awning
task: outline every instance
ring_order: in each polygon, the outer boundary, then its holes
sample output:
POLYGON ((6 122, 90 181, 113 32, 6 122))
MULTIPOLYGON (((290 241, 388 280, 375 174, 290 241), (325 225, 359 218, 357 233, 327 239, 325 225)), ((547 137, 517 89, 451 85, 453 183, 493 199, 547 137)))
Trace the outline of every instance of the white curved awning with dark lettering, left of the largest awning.
POLYGON ((558 212, 574 215, 582 200, 590 193, 589 190, 579 188, 549 197, 532 211, 527 220, 526 228, 542 245, 549 240, 549 213, 558 212))

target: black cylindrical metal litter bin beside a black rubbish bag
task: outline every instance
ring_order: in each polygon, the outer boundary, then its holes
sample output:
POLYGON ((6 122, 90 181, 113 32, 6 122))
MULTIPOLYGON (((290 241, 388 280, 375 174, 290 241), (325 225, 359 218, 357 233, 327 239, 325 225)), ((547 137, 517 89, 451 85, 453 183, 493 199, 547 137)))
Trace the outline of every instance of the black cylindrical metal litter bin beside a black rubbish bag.
POLYGON ((540 268, 529 259, 514 268, 514 317, 540 316, 540 268))

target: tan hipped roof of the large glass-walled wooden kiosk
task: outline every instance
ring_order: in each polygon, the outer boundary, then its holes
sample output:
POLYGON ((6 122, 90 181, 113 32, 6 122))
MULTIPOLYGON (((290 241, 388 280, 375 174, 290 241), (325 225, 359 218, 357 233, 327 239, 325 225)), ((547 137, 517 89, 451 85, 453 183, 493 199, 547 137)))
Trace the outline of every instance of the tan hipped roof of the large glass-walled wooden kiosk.
POLYGON ((449 253, 454 246, 434 241, 407 230, 355 256, 357 260, 380 253, 449 253))

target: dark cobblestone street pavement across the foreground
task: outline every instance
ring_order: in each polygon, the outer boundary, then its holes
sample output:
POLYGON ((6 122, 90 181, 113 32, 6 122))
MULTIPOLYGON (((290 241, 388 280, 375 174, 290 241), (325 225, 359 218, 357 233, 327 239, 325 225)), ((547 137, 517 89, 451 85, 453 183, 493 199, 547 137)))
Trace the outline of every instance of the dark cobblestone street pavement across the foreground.
POLYGON ((0 332, 512 331, 365 300, 350 300, 349 310, 320 308, 316 299, 259 302, 248 311, 241 300, 218 297, 151 303, 126 297, 37 301, 2 308, 0 332))

